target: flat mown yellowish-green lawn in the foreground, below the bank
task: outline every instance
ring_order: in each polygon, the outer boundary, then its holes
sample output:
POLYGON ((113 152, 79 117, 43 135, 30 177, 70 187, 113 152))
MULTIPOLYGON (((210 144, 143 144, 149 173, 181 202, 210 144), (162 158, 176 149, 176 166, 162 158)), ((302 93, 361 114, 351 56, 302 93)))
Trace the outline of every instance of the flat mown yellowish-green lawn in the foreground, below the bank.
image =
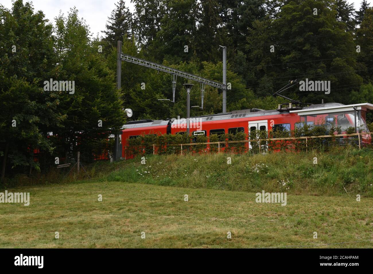
POLYGON ((0 204, 0 248, 373 248, 322 245, 373 239, 372 198, 288 195, 281 206, 255 193, 125 182, 8 191, 30 192, 30 205, 0 204))

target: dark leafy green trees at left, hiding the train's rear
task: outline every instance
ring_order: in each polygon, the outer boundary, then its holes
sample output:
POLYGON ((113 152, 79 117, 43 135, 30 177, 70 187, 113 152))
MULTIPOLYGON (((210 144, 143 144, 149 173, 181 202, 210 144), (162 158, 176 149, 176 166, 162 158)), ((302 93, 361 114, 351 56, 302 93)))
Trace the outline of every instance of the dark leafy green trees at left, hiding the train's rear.
POLYGON ((55 157, 76 158, 76 151, 93 159, 93 148, 125 119, 115 74, 88 26, 76 9, 52 26, 21 0, 12 10, 0 7, 0 17, 1 176, 26 167, 45 170, 55 157), (46 89, 50 79, 74 81, 75 91, 46 89))

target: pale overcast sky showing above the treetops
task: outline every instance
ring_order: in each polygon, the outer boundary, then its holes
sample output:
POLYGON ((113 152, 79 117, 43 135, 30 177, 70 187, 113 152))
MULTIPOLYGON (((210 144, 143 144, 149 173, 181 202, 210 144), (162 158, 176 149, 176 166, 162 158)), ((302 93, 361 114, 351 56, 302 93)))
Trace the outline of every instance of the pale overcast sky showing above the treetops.
MULTIPOLYGON (((362 0, 349 0, 349 3, 353 3, 355 9, 360 8, 362 0)), ((23 2, 26 2, 24 0, 23 2)), ((54 23, 54 18, 62 10, 63 13, 67 13, 70 7, 75 6, 79 10, 79 17, 84 18, 87 24, 91 28, 91 32, 94 37, 97 32, 105 30, 105 24, 107 18, 110 16, 112 10, 115 8, 117 0, 33 0, 35 10, 42 10, 44 15, 50 22, 54 23)), ((370 6, 372 6, 373 0, 368 0, 370 6)), ((126 6, 129 7, 131 12, 134 10, 134 5, 130 0, 125 1, 126 6)), ((1 0, 1 4, 10 9, 12 7, 12 0, 1 0)))

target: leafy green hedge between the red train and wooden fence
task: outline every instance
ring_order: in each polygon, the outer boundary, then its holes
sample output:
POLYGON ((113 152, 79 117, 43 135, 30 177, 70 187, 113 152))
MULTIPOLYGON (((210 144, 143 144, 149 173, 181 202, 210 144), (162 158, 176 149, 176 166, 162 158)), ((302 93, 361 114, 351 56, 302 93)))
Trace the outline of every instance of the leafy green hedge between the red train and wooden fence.
MULTIPOLYGON (((347 133, 354 132, 354 127, 349 127, 347 133)), ((323 138, 308 138, 307 147, 308 151, 331 151, 336 146, 355 146, 358 144, 357 138, 343 138, 337 137, 334 134, 341 133, 341 127, 332 124, 327 124, 321 121, 316 125, 307 125, 303 123, 301 126, 297 126, 294 130, 288 131, 284 129, 270 130, 251 130, 250 136, 247 136, 244 132, 230 132, 226 134, 212 134, 207 138, 204 135, 187 135, 184 134, 162 134, 156 135, 151 132, 150 135, 140 135, 137 138, 129 139, 130 148, 128 153, 132 155, 148 155, 153 154, 153 144, 156 154, 181 154, 180 144, 192 144, 197 145, 184 145, 184 153, 207 153, 217 152, 219 150, 218 144, 199 144, 206 142, 220 142, 220 148, 224 148, 225 153, 242 154, 249 152, 250 154, 266 153, 266 152, 301 152, 306 151, 306 140, 305 139, 288 139, 288 140, 271 140, 266 141, 268 138, 289 138, 289 137, 305 137, 305 136, 324 136, 332 135, 331 137, 323 138), (269 137, 268 137, 269 136, 269 137), (261 140, 250 142, 229 143, 229 141, 244 141, 250 140, 261 140)), ((222 149, 221 149, 222 151, 222 149)))

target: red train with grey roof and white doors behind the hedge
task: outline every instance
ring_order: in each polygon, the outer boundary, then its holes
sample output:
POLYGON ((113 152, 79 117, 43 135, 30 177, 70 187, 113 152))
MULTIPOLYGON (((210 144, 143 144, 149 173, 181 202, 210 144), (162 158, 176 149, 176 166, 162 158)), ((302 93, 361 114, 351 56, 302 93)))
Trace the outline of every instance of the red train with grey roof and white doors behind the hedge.
MULTIPOLYGON (((369 132, 366 126, 366 111, 372 110, 369 103, 343 105, 326 103, 298 107, 289 103, 285 107, 279 105, 277 110, 260 110, 257 108, 236 110, 228 113, 191 117, 191 135, 222 134, 230 132, 245 132, 250 136, 251 130, 294 130, 297 125, 320 123, 335 123, 341 126, 342 133, 349 127, 356 127, 360 132, 369 132), (354 119, 354 117, 356 117, 354 119)), ((128 139, 141 134, 175 134, 186 132, 186 119, 170 120, 139 120, 128 122, 122 131, 122 157, 126 158, 128 139)), ((370 143, 370 135, 363 135, 363 142, 370 143)), ((128 157, 128 154, 127 154, 128 157)), ((129 156, 131 158, 131 155, 129 156)))

